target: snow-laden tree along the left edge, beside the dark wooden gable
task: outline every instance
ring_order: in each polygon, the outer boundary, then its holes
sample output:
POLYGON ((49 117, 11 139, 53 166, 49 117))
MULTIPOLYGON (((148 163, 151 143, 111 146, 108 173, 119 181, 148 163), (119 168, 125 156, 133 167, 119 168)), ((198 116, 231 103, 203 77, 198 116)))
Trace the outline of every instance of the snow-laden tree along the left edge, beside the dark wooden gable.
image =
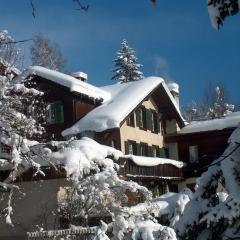
MULTIPOLYGON (((0 36, 8 35, 3 32, 0 36)), ((8 40, 4 40, 8 41, 8 40)), ((5 49, 5 45, 3 45, 5 49)), ((2 48, 0 45, 0 52, 2 48)), ((9 154, 1 159, 0 167, 9 169, 9 175, 0 181, 0 187, 10 189, 8 206, 2 211, 8 223, 11 223, 11 199, 13 190, 17 189, 12 182, 25 168, 40 166, 34 162, 31 146, 37 144, 39 136, 44 132, 45 107, 42 101, 43 93, 26 87, 21 79, 13 79, 11 64, 4 64, 5 70, 0 75, 0 147, 7 147, 9 154), (42 123, 42 124, 41 124, 42 123)), ((1 193, 4 195, 4 193, 1 193)))

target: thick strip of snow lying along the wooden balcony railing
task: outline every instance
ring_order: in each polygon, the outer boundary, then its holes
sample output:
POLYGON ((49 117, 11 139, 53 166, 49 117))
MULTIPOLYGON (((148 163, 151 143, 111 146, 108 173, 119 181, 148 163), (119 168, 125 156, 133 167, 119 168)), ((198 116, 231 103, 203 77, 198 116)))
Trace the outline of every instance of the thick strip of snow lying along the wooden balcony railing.
POLYGON ((170 164, 177 168, 182 168, 183 162, 168 158, 143 157, 135 155, 125 155, 125 158, 131 159, 136 165, 144 167, 154 167, 160 164, 170 164))

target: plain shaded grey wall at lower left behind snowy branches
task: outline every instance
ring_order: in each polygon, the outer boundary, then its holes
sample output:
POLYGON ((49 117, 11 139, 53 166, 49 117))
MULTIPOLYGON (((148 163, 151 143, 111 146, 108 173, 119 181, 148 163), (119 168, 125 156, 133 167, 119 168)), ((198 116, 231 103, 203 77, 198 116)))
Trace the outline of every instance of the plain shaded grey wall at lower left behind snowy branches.
MULTIPOLYGON (((37 225, 46 229, 54 229, 57 210, 57 193, 60 186, 68 186, 70 182, 66 179, 54 179, 43 181, 22 182, 19 185, 25 196, 17 191, 13 196, 14 227, 5 223, 0 218, 0 240, 22 240, 27 239, 26 232, 37 230, 37 225)), ((0 209, 6 207, 0 202, 0 209)))

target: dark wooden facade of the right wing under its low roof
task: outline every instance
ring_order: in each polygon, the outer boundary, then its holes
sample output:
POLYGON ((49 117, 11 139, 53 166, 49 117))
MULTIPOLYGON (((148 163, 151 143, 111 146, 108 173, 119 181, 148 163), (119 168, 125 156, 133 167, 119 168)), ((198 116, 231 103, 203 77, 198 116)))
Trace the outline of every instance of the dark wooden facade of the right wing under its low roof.
POLYGON ((184 177, 199 177, 209 164, 219 158, 228 146, 228 138, 235 128, 223 130, 174 134, 165 137, 167 143, 176 142, 179 160, 186 163, 184 177), (190 159, 190 147, 197 149, 197 158, 190 159))

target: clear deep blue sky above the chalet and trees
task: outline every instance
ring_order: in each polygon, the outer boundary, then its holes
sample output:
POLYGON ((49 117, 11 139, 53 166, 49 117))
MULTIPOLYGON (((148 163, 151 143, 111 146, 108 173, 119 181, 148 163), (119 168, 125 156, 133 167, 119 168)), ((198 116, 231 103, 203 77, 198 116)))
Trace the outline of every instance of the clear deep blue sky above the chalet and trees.
MULTIPOLYGON (((88 12, 77 11, 72 0, 2 0, 0 28, 16 39, 42 33, 57 42, 66 71, 84 71, 89 82, 112 84, 112 60, 127 38, 143 64, 145 76, 164 76, 180 85, 181 104, 199 101, 209 82, 221 81, 230 99, 240 104, 239 16, 212 28, 206 0, 82 0, 88 12)), ((22 44, 25 65, 29 44, 22 44)))

